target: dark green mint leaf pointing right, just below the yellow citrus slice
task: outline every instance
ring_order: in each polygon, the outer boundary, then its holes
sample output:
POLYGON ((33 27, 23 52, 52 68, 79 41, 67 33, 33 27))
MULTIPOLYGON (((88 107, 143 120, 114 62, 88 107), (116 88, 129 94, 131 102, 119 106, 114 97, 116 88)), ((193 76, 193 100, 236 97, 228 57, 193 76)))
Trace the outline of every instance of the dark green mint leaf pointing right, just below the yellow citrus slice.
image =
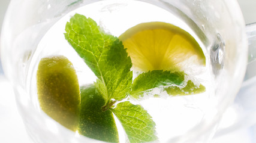
POLYGON ((164 88, 171 85, 182 85, 185 73, 153 70, 147 73, 141 73, 134 79, 131 88, 131 96, 139 98, 144 92, 151 91, 154 88, 164 88))

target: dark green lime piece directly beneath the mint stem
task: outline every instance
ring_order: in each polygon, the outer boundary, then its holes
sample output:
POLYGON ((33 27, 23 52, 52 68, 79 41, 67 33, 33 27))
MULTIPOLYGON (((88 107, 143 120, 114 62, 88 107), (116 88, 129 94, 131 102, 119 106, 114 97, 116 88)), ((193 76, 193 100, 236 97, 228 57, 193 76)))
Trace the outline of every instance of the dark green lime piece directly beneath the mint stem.
POLYGON ((118 129, 110 110, 103 111, 104 98, 94 85, 83 86, 81 91, 81 111, 79 133, 89 138, 106 142, 119 142, 118 129))

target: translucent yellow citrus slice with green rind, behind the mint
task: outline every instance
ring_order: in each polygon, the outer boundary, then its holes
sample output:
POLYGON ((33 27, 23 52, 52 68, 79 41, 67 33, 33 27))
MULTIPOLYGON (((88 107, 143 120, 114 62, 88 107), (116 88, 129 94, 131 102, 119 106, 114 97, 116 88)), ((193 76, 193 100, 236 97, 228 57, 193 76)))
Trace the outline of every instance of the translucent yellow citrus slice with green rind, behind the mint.
POLYGON ((197 41, 173 24, 141 23, 128 29, 119 39, 127 48, 133 70, 180 70, 206 63, 197 41))

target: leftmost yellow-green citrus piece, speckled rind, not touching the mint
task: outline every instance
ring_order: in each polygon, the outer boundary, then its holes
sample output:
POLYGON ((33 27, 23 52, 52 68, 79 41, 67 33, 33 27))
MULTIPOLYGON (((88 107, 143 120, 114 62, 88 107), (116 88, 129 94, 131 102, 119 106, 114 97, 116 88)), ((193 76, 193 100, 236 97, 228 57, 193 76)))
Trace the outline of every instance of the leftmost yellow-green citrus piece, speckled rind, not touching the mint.
POLYGON ((64 56, 42 58, 37 70, 41 109, 66 128, 76 131, 80 90, 73 64, 64 56))

